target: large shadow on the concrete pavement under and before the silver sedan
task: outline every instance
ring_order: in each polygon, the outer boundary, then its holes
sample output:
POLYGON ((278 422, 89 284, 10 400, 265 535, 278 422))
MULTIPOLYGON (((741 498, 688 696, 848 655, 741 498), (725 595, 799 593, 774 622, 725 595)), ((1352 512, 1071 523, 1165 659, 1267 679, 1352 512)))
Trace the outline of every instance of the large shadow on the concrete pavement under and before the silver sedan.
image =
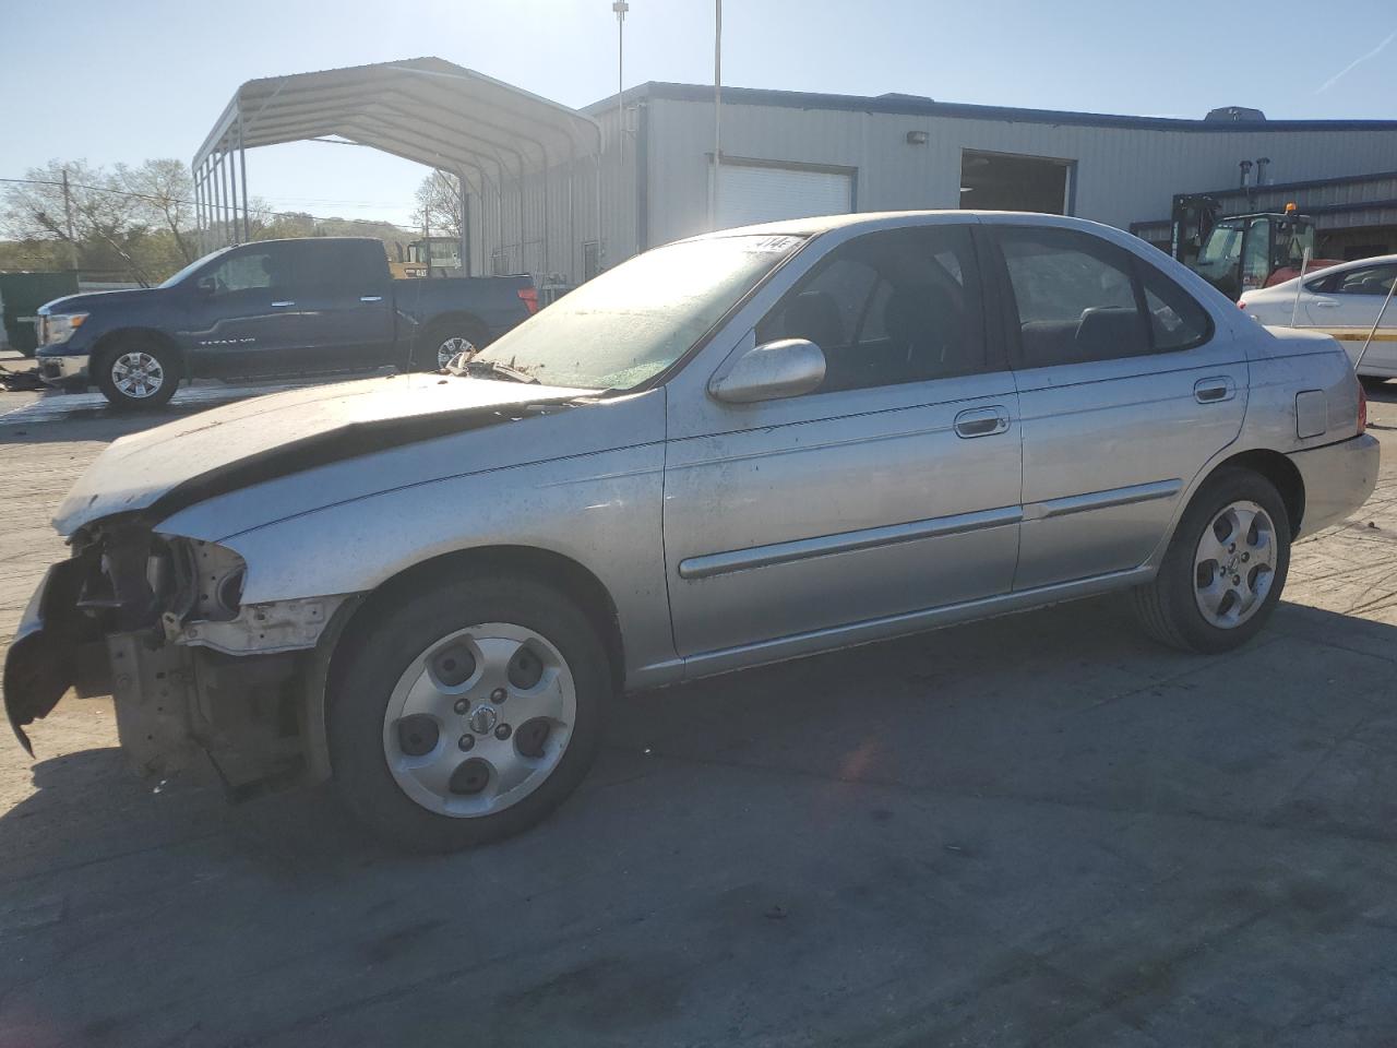
POLYGON ((0 1044, 1363 1042, 1394 658, 1295 605, 1183 655, 1116 601, 820 655, 617 701, 553 819, 440 858, 327 789, 41 760, 0 1044))

